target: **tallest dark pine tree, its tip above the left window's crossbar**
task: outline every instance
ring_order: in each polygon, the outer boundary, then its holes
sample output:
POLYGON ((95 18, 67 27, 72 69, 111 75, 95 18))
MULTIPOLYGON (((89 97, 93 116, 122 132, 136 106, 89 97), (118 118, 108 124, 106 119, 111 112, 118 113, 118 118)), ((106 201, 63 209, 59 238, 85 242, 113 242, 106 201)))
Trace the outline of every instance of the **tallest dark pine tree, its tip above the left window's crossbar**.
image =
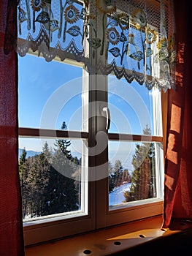
MULTIPOLYGON (((63 122, 61 129, 66 129, 63 122)), ((75 211, 79 205, 79 195, 74 184, 74 173, 77 170, 77 159, 68 149, 70 140, 55 141, 53 165, 50 166, 50 181, 47 187, 50 214, 75 211)))

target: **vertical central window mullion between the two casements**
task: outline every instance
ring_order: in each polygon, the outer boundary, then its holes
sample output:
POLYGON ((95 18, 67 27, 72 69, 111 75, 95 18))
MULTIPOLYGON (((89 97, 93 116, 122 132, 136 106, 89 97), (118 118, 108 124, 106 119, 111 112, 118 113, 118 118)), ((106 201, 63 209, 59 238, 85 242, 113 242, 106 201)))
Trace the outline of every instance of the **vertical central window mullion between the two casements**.
POLYGON ((101 47, 96 54, 96 136, 98 147, 96 151, 96 228, 107 225, 108 201, 108 131, 106 130, 106 114, 108 108, 108 76, 102 75, 99 63, 107 64, 107 14, 97 12, 97 37, 101 38, 101 47), (102 54, 101 54, 102 53, 102 54), (99 144, 100 143, 100 144, 99 144), (101 150, 102 148, 102 150, 101 150))

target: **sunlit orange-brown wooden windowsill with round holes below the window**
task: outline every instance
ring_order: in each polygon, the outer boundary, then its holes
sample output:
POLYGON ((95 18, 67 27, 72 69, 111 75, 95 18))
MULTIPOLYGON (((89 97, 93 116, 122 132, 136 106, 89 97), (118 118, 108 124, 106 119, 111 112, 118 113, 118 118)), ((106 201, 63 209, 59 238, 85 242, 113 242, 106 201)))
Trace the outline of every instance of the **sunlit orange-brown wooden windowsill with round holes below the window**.
MULTIPOLYGON (((53 241, 47 244, 26 247, 26 256, 58 255, 119 255, 126 249, 154 241, 155 238, 169 236, 192 226, 178 222, 175 227, 161 229, 162 216, 130 222, 117 227, 98 230, 72 238, 53 241)), ((167 246, 167 245, 166 245, 167 246)), ((158 248, 157 248, 158 249, 158 248)))

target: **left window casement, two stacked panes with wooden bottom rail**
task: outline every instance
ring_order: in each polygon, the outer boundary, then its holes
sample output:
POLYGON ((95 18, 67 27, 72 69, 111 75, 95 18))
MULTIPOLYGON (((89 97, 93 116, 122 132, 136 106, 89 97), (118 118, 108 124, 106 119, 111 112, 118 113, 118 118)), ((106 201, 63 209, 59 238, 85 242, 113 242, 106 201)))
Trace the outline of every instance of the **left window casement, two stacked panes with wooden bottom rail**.
POLYGON ((82 67, 47 63, 34 55, 19 57, 19 172, 26 244, 37 241, 31 233, 45 223, 42 241, 73 234, 72 220, 77 233, 93 228, 88 213, 88 95, 82 73, 82 67), (64 227, 69 231, 63 232, 64 227))

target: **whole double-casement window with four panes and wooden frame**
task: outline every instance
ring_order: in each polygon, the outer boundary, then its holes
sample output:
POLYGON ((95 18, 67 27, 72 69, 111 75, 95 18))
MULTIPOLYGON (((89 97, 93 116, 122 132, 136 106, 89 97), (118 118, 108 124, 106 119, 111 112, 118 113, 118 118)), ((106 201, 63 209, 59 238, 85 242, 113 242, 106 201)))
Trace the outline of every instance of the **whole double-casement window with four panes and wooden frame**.
MULTIPOLYGON (((66 7, 66 26, 78 20, 70 20, 80 15, 78 4, 66 7)), ((100 46, 109 49, 108 55, 101 55, 101 61, 111 63, 120 56, 117 67, 128 52, 123 44, 127 15, 123 12, 120 19, 118 27, 110 15, 103 15, 97 24, 103 30, 89 24, 97 37, 107 33, 108 41, 100 46)), ((144 32, 131 29, 142 41, 144 32)), ((77 26, 64 30, 63 37, 66 33, 80 34, 77 26)), ((91 63, 96 61, 95 44, 85 45, 91 63)), ((130 47, 136 48, 133 41, 130 47)), ((137 57, 131 56, 134 69, 140 70, 137 57)), ((150 54, 147 61, 151 67, 150 54)), ((153 77, 153 69, 147 72, 153 77)), ((26 244, 162 214, 161 114, 157 88, 148 90, 136 80, 129 84, 113 73, 87 72, 70 52, 66 61, 46 62, 33 52, 19 57, 19 172, 26 244)))

